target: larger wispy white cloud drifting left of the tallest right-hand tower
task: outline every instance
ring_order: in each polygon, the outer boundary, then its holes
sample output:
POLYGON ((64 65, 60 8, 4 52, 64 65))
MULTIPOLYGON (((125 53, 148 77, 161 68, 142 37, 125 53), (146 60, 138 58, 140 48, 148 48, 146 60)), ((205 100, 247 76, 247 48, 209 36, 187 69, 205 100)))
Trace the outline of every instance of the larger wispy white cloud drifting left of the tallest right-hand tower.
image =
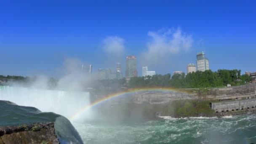
POLYGON ((148 43, 147 51, 142 53, 142 63, 156 65, 163 62, 171 54, 188 51, 192 47, 191 35, 182 32, 180 28, 148 32, 152 40, 148 43))

